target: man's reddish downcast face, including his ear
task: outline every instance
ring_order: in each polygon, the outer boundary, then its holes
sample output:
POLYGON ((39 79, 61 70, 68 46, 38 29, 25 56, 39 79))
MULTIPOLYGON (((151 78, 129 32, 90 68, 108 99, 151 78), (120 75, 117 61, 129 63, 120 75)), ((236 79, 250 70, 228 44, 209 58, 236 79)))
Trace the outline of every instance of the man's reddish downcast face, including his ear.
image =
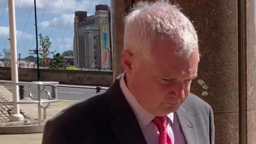
POLYGON ((138 62, 140 54, 133 54, 131 70, 127 72, 128 87, 148 112, 164 116, 175 112, 187 98, 191 81, 197 76, 198 51, 188 59, 175 55, 180 43, 157 40, 153 43, 149 60, 138 62))

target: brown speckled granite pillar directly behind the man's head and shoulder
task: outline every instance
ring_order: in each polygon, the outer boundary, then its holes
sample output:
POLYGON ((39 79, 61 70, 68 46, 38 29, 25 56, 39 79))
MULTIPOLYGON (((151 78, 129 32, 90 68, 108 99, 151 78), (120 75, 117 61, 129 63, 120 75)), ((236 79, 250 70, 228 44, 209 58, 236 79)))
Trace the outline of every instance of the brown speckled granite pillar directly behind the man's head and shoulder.
MULTIPOLYGON (((111 0, 114 78, 122 72, 123 18, 138 1, 111 0)), ((191 92, 213 108, 215 143, 255 144, 255 0, 170 1, 179 4, 198 33, 201 59, 191 92)))

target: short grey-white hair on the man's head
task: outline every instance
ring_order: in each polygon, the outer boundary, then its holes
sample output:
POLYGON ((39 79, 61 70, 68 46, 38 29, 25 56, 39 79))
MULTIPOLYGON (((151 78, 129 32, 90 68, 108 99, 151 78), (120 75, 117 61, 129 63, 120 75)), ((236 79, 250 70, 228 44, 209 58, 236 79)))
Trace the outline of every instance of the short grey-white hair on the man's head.
POLYGON ((177 5, 166 0, 139 2, 125 17, 124 49, 148 54, 154 40, 165 38, 182 43, 175 50, 182 57, 198 49, 194 26, 177 5))

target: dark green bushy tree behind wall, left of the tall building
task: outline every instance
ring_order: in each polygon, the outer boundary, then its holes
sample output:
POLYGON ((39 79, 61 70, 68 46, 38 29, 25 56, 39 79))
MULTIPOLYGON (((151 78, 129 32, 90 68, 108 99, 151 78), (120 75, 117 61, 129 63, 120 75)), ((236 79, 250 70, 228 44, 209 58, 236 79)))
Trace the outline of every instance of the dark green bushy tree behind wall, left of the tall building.
POLYGON ((52 69, 65 69, 66 64, 64 61, 64 56, 60 55, 60 53, 51 52, 53 54, 53 59, 50 64, 50 68, 52 69))

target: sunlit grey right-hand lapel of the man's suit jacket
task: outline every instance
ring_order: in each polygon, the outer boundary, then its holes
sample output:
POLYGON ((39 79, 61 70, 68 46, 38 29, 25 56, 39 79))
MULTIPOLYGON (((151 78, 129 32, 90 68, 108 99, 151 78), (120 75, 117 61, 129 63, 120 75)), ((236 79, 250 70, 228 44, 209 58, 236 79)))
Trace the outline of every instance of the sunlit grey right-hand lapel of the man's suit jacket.
POLYGON ((197 144, 194 118, 189 116, 188 108, 186 107, 185 103, 182 104, 181 107, 176 111, 176 114, 187 144, 197 144))

